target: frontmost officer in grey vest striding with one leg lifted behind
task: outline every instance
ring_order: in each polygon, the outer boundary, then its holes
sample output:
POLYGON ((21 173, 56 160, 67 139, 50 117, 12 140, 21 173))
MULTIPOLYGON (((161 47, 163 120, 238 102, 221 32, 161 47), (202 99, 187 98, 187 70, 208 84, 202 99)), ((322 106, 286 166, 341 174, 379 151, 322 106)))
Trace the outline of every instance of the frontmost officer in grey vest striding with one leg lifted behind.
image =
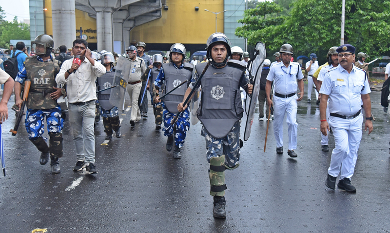
MULTIPOLYGON (((202 101, 196 115, 203 123, 201 135, 206 139, 210 194, 214 196, 213 215, 225 218, 225 169, 237 168, 240 158, 240 121, 244 112, 240 104, 240 87, 252 94, 252 85, 245 76, 243 63, 233 59, 228 61, 231 49, 225 34, 212 34, 206 45, 207 58, 212 61, 200 80, 202 101)), ((194 88, 206 64, 195 66, 194 78, 184 99, 194 88)), ((183 107, 183 102, 177 106, 179 111, 188 111, 186 107, 183 107)))

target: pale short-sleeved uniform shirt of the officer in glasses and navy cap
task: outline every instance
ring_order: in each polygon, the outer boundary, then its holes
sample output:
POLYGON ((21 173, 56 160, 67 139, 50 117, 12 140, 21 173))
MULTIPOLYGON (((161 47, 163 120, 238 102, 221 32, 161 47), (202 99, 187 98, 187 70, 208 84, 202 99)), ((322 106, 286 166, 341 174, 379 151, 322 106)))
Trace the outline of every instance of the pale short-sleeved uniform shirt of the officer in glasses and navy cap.
POLYGON ((352 116, 362 108, 360 95, 371 92, 369 80, 365 76, 366 72, 356 66, 353 66, 350 74, 341 65, 326 73, 320 93, 329 96, 331 113, 352 116))

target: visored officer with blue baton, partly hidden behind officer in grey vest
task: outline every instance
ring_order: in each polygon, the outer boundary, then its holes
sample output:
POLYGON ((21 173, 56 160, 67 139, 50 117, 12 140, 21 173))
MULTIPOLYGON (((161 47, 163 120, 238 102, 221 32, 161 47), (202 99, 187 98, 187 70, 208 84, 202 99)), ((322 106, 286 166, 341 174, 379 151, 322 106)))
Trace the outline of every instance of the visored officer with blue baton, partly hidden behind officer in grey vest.
POLYGON ((150 95, 152 96, 153 113, 156 118, 156 130, 160 130, 162 124, 162 105, 154 103, 154 99, 156 99, 157 97, 156 89, 159 90, 158 87, 155 87, 155 80, 157 78, 158 73, 160 73, 163 58, 161 54, 155 54, 152 57, 152 61, 153 67, 146 69, 145 73, 141 77, 141 81, 146 82, 148 80, 149 71, 150 69, 152 69, 152 71, 150 72, 149 83, 147 83, 147 89, 149 89, 150 95))

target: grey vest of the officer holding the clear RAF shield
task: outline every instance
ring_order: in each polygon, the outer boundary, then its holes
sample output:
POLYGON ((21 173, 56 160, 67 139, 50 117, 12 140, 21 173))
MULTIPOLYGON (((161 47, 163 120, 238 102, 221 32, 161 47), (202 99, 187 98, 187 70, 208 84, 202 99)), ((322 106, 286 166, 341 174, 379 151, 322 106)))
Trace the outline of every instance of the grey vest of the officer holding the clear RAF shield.
MULTIPOLYGON (((105 73, 101 77, 98 77, 97 80, 99 85, 99 91, 111 87, 114 82, 114 76, 115 68, 111 72, 105 73)), ((100 107, 102 107, 104 110, 111 110, 112 108, 114 108, 114 105, 110 103, 111 90, 112 89, 108 89, 98 93, 98 101, 100 103, 100 107)))

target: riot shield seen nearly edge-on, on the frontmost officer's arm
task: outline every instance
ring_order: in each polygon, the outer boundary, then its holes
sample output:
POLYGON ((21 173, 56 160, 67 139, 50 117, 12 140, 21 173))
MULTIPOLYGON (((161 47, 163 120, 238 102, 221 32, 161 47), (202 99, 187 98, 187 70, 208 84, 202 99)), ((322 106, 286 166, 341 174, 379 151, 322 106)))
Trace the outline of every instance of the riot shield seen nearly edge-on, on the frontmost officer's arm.
POLYGON ((249 136, 251 135, 251 128, 252 123, 254 119, 254 110, 256 109, 256 103, 257 98, 259 96, 260 91, 260 78, 261 78, 261 71, 263 69, 263 62, 266 56, 266 50, 265 46, 262 42, 257 42, 256 46, 254 48, 254 60, 252 62, 252 69, 251 73, 254 75, 253 79, 253 90, 252 95, 247 96, 245 105, 248 104, 248 106, 245 106, 245 108, 248 108, 248 116, 247 116, 247 122, 245 124, 245 133, 244 133, 244 140, 248 140, 249 136), (249 98, 249 99, 248 99, 249 98))

